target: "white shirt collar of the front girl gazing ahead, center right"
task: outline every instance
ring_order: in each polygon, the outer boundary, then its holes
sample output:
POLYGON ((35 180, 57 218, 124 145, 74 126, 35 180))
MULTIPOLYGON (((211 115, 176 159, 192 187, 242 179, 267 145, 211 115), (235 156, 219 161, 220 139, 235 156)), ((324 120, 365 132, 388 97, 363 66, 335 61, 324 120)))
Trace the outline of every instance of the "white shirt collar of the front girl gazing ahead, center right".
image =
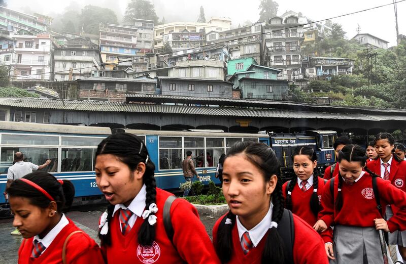
POLYGON ((268 229, 270 227, 270 222, 272 220, 272 208, 273 207, 274 207, 274 205, 271 202, 270 206, 269 206, 269 210, 265 214, 265 217, 263 217, 261 222, 259 222, 258 225, 253 227, 251 230, 247 230, 243 226, 243 224, 241 224, 240 218, 238 217, 238 215, 236 216, 237 230, 238 230, 238 235, 239 235, 240 241, 241 241, 241 238, 244 235, 244 233, 248 232, 254 247, 256 247, 258 245, 258 243, 261 241, 263 236, 265 236, 266 232, 268 232, 268 229))

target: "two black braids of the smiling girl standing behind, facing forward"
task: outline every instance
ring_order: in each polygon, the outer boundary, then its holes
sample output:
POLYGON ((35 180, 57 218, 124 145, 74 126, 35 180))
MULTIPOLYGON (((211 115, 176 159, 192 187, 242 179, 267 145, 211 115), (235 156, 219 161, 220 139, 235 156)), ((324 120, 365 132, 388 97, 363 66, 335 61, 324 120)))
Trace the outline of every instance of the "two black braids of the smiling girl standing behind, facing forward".
MULTIPOLYGON (((310 146, 297 146, 295 150, 293 151, 292 154, 292 159, 296 155, 306 155, 309 157, 309 159, 312 162, 317 161, 317 155, 316 151, 310 147, 310 146)), ((293 188, 297 184, 297 177, 293 177, 289 184, 289 188, 287 190, 288 194, 286 195, 286 200, 285 200, 285 208, 288 210, 292 210, 293 204, 292 204, 292 192, 293 188)), ((317 190, 319 188, 319 170, 317 167, 313 169, 313 194, 312 197, 310 198, 310 209, 312 210, 313 214, 317 216, 317 214, 320 211, 320 204, 319 204, 319 198, 317 196, 317 190)))

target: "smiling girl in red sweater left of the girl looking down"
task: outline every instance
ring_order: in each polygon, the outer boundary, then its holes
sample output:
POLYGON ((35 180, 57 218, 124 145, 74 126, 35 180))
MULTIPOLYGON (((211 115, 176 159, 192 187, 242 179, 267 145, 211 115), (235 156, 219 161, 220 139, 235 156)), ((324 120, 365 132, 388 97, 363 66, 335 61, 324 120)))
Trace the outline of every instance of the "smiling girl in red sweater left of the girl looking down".
POLYGON ((296 177, 283 185, 285 208, 313 227, 317 222, 324 188, 324 180, 317 171, 316 151, 310 146, 298 146, 292 157, 296 177))

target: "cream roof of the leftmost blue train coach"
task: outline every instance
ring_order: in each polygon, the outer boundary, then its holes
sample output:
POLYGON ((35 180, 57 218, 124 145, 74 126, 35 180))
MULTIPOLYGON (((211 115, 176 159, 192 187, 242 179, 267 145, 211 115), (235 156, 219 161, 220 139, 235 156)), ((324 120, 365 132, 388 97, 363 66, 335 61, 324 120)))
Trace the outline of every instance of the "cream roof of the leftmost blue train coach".
POLYGON ((37 124, 26 122, 0 121, 1 130, 42 132, 42 133, 63 133, 83 135, 111 135, 109 127, 62 125, 62 124, 37 124))

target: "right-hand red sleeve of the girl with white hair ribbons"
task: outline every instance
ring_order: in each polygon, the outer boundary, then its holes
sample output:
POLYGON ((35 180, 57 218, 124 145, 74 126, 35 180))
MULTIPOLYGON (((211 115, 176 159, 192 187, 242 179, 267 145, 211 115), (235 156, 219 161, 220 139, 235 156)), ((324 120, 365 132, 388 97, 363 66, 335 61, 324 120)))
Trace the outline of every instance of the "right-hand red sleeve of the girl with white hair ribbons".
POLYGON ((171 215, 175 232, 173 241, 183 260, 196 264, 220 263, 205 226, 192 204, 177 199, 171 207, 171 215))

